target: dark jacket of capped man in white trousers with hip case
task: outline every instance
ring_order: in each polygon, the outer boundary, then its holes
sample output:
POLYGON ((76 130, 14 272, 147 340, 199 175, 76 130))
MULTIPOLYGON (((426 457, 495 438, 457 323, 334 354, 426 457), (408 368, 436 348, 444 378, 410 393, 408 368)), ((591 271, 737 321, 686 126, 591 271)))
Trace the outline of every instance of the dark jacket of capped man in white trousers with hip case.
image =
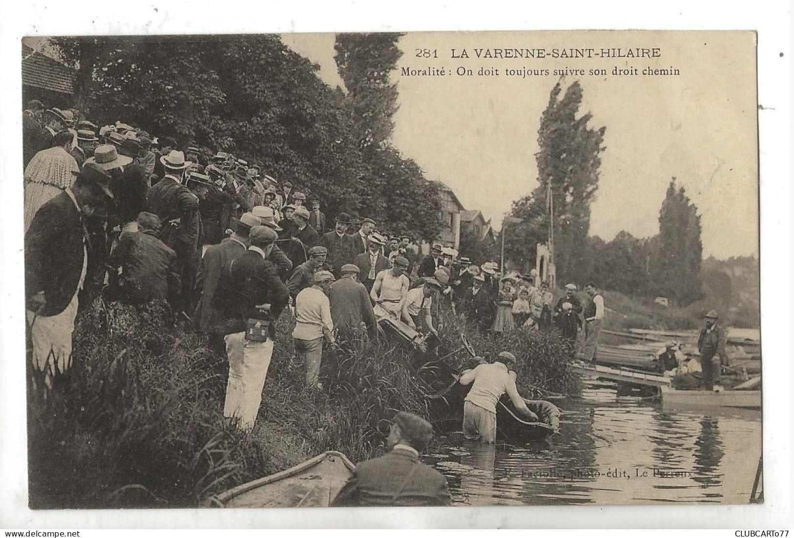
POLYGON ((276 338, 276 319, 287 306, 287 287, 279 279, 276 267, 259 252, 247 250, 229 262, 214 296, 214 306, 222 310, 227 321, 224 334, 245 331, 249 318, 271 321, 269 332, 276 338), (256 305, 270 305, 261 312, 256 305))

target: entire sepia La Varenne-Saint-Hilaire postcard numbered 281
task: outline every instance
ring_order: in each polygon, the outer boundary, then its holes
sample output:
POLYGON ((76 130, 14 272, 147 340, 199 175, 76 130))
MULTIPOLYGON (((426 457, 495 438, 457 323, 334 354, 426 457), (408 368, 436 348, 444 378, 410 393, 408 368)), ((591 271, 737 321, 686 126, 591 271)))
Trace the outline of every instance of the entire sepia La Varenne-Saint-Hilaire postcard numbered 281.
POLYGON ((21 77, 31 509, 763 501, 756 33, 26 37, 21 77))

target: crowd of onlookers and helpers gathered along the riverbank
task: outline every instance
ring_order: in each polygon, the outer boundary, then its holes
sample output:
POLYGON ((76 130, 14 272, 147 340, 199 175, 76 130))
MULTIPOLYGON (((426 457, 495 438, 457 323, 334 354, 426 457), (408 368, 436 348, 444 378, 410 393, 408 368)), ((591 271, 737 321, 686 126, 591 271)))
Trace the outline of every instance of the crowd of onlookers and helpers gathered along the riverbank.
MULTIPOLYGON (((556 327, 573 346, 584 312, 595 353, 603 317, 595 286, 584 308, 573 284, 553 306, 549 283, 534 272, 503 274, 438 243, 421 256, 409 234, 380 231, 371 217, 326 218, 320 199, 228 152, 180 146, 121 121, 99 127, 79 110, 38 101, 23 113, 23 145, 29 344, 47 386, 70 366, 79 306, 98 296, 160 302, 174 326, 206 333, 229 361, 223 414, 245 431, 285 310, 295 321, 291 366, 318 390, 323 348, 376 336, 379 317, 434 334, 442 311, 483 332, 556 327)), ((522 404, 507 376, 515 356, 506 353, 461 379, 473 386, 467 435, 487 442, 495 421, 480 410, 493 413, 494 394, 522 404)), ((424 428, 410 418, 398 430, 417 424, 424 428)))

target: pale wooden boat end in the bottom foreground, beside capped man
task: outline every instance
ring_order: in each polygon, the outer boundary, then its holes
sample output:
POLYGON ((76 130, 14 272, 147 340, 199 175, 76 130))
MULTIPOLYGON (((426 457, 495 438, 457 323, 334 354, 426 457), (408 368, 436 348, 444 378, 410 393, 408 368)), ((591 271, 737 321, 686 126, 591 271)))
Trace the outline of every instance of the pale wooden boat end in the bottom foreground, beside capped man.
POLYGON ((223 508, 329 506, 356 468, 341 452, 323 452, 286 471, 233 487, 210 499, 223 508))

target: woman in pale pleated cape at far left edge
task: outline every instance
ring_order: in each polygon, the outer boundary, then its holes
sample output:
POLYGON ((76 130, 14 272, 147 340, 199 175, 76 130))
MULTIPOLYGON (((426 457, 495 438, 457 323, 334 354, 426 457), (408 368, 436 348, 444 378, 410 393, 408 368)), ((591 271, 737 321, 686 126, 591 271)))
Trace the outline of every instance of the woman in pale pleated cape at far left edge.
POLYGON ((41 206, 71 187, 80 171, 69 154, 72 134, 56 133, 53 147, 38 152, 25 167, 25 232, 41 206))

